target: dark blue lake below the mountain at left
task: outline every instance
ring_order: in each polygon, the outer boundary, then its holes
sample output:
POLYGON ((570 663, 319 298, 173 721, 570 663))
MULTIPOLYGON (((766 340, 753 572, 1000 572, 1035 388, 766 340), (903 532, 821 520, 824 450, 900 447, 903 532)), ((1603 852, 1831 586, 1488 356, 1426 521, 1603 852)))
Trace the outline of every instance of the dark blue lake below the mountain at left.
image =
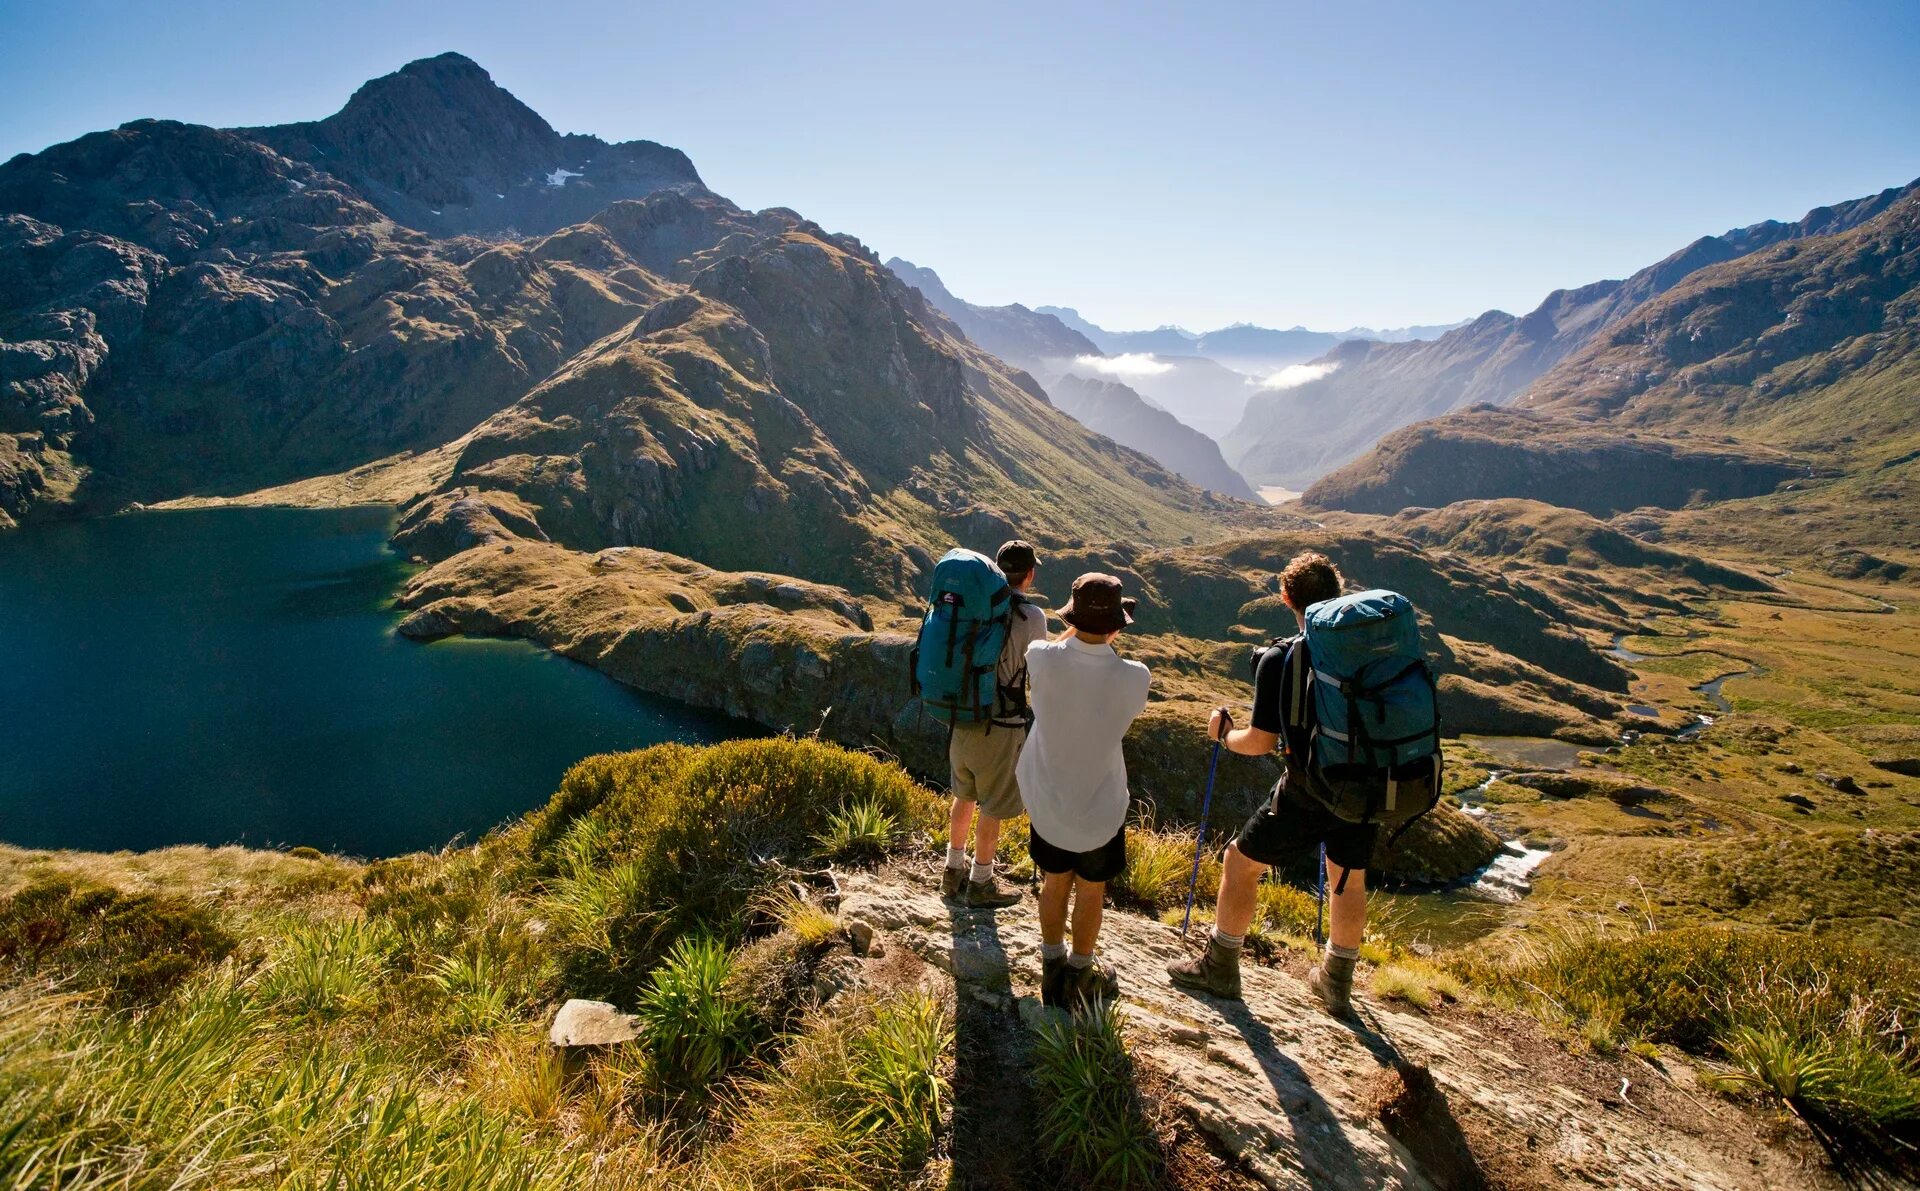
POLYGON ((526 642, 394 634, 392 513, 204 509, 0 534, 0 839, 438 847, 589 753, 737 736, 526 642))

